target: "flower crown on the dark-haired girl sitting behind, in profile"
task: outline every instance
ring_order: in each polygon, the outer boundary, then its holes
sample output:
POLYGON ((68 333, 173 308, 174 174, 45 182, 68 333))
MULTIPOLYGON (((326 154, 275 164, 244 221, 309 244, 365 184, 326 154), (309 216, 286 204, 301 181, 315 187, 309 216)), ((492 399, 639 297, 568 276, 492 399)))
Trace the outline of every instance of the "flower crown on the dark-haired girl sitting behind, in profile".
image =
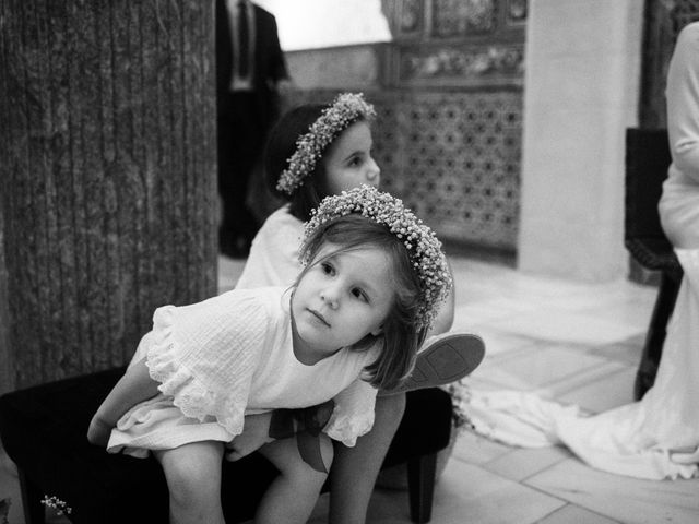
POLYGON ((332 105, 323 109, 318 120, 310 126, 308 133, 296 141, 296 151, 287 160, 288 167, 280 175, 276 190, 292 194, 304 183, 325 147, 339 133, 360 118, 371 120, 375 117, 374 106, 364 102, 362 93, 337 95, 332 105))

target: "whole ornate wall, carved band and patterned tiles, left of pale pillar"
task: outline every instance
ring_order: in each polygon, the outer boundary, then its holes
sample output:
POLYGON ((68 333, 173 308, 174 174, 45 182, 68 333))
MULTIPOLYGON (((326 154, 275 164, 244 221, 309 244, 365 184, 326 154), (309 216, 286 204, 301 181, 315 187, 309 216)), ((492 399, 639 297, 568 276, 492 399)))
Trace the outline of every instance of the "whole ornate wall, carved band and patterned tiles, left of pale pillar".
POLYGON ((294 103, 364 91, 382 187, 447 243, 517 249, 526 2, 389 0, 394 41, 288 53, 294 103))

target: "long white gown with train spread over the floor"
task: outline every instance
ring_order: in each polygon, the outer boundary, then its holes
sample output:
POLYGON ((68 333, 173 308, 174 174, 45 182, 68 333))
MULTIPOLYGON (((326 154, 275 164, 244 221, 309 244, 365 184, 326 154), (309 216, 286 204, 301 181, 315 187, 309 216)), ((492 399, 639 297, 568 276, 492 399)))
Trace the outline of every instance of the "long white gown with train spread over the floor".
POLYGON ((599 469, 648 479, 690 478, 697 464, 671 460, 699 445, 699 23, 679 34, 667 76, 673 163, 659 205, 684 270, 655 377, 643 398, 585 417, 531 393, 473 391, 476 431, 522 446, 565 444, 599 469))

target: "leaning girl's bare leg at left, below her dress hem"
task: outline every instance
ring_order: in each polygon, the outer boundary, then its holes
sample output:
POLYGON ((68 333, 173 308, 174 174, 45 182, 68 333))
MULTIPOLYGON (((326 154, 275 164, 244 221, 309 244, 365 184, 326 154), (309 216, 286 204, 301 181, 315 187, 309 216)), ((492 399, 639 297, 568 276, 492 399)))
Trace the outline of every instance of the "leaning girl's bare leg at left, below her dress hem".
POLYGON ((154 452, 170 493, 170 524, 224 524, 221 507, 223 443, 193 442, 154 452))

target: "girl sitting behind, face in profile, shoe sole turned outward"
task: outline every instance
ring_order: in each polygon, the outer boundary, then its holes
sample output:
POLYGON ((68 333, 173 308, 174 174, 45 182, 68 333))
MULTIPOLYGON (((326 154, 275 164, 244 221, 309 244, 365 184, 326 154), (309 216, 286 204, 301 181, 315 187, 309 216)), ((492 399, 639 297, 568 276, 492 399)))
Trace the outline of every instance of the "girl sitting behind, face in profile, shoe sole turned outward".
MULTIPOLYGON (((270 189, 287 204, 272 213, 258 231, 237 288, 288 285, 299 271, 304 222, 321 199, 360 184, 378 187, 381 170, 371 156, 374 107, 360 94, 344 93, 330 105, 311 104, 291 110, 273 128, 265 151, 270 189)), ((435 319, 430 335, 445 333, 453 321, 450 294, 435 319)), ((353 448, 335 445, 331 471, 330 516, 333 523, 364 522, 376 477, 405 410, 410 389, 459 380, 484 355, 481 338, 446 334, 430 337, 417 356, 416 372, 391 394, 379 392, 375 424, 353 448), (441 362, 439 369, 430 362, 441 362)), ((254 418, 270 417, 262 415, 254 418)), ((229 444, 230 458, 253 451, 268 432, 249 424, 229 444)), ((269 425, 269 420, 266 422, 269 425)))

